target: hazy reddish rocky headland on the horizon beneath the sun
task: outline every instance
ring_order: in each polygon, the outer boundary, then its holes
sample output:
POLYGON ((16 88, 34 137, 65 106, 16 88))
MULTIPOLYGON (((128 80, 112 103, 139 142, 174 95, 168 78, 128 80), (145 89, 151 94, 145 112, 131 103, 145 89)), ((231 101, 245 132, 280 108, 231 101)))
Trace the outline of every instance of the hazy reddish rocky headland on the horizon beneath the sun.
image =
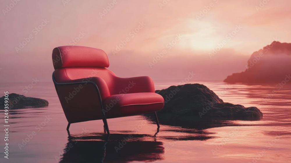
POLYGON ((274 41, 272 44, 254 52, 246 70, 228 76, 227 83, 278 83, 290 80, 291 43, 274 41), (286 78, 287 77, 287 78, 286 78))

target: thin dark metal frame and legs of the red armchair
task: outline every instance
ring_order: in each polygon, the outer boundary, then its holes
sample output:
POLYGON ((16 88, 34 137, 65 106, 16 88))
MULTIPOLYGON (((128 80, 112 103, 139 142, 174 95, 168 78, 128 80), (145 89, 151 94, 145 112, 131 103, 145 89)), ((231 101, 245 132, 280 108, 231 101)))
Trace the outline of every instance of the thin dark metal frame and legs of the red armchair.
MULTIPOLYGON (((95 86, 95 89, 96 89, 97 94, 98 94, 98 99, 100 101, 101 111, 102 111, 102 115, 103 115, 103 119, 102 120, 103 120, 103 123, 104 123, 104 127, 105 127, 105 129, 107 131, 107 134, 110 135, 109 128, 108 128, 108 123, 107 123, 107 119, 106 119, 105 112, 104 112, 104 109, 103 109, 103 104, 102 104, 102 99, 101 99, 100 91, 99 91, 98 86, 96 85, 96 83, 90 82, 90 81, 89 82, 58 83, 54 79, 54 73, 52 74, 52 79, 53 79, 55 88, 56 88, 56 86, 62 86, 62 85, 79 85, 79 84, 88 84, 88 83, 89 84, 93 84, 93 86, 95 86)), ((56 88, 56 91, 57 91, 57 88, 56 88)), ((159 128, 160 127, 160 124, 159 124, 159 120, 158 120, 158 117, 157 117, 157 113, 156 112, 153 112, 153 113, 155 115, 157 127, 159 128)), ((68 123, 68 126, 67 126, 67 130, 68 131, 69 131, 70 125, 71 125, 71 123, 68 123)))

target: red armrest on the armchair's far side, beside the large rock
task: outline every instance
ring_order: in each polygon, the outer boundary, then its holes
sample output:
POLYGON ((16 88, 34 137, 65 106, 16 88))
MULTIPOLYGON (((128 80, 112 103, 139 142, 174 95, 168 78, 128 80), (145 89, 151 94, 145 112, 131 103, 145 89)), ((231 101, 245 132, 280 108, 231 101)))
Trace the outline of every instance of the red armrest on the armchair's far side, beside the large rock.
POLYGON ((115 80, 114 94, 123 93, 141 93, 141 92, 153 92, 155 93, 155 86, 152 78, 148 76, 141 77, 129 77, 120 78, 117 77, 115 80))

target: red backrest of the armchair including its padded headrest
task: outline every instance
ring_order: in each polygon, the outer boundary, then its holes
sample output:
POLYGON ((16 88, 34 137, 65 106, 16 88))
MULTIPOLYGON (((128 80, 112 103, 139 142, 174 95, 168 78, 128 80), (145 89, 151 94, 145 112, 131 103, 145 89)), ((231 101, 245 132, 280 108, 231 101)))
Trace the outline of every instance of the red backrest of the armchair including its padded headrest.
POLYGON ((116 75, 107 69, 109 60, 103 50, 83 46, 60 46, 54 48, 52 59, 56 82, 101 77, 108 85, 110 94, 116 94, 113 86, 116 75))

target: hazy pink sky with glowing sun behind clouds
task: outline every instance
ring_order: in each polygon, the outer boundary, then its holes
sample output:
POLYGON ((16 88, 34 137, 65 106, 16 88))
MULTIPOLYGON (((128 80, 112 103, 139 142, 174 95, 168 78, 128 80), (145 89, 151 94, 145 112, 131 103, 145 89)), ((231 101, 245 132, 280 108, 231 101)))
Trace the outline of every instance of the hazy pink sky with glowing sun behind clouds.
POLYGON ((178 81, 189 72, 196 74, 193 81, 222 81, 245 70, 251 54, 274 38, 291 42, 291 1, 287 0, 171 0, 164 6, 159 4, 162 0, 116 0, 112 8, 107 6, 113 0, 10 3, 0 2, 0 82, 29 82, 36 77, 52 81, 52 49, 72 45, 78 36, 82 38, 77 38, 75 45, 103 49, 109 57, 109 69, 120 77, 147 75, 154 80, 178 81), (6 5, 13 8, 8 11, 6 5), (100 17, 103 8, 110 10, 100 17), (200 15, 203 10, 205 14, 200 15), (133 33, 135 29, 138 32, 133 33), (30 35, 27 45, 17 52, 15 47, 30 35), (126 39, 126 45, 113 55, 116 45, 126 39), (175 39, 177 43, 169 46, 175 39), (209 53, 224 40, 226 44, 210 58, 209 53), (151 67, 149 62, 163 50, 166 54, 151 67))

